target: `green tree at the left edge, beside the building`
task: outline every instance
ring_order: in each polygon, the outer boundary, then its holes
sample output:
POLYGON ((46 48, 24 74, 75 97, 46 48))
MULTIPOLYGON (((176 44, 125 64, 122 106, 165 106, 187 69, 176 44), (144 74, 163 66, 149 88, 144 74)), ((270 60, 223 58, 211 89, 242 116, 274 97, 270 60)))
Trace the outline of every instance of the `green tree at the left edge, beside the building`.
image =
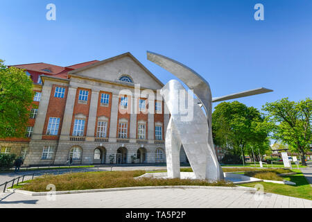
POLYGON ((33 102, 33 81, 0 60, 0 138, 24 137, 33 102))

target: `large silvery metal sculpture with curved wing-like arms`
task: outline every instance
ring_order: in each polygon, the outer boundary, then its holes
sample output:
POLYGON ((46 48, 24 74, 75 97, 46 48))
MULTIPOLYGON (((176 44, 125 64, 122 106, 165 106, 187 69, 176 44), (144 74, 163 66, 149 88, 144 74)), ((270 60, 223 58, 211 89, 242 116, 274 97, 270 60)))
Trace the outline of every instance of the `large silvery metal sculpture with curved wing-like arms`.
POLYGON ((224 178, 223 171, 216 158, 211 132, 212 102, 252 96, 255 94, 272 92, 272 90, 259 88, 228 96, 212 98, 209 83, 207 83, 202 76, 197 74, 196 71, 193 71, 180 62, 157 53, 148 51, 147 56, 148 60, 171 72, 171 74, 180 78, 189 89, 193 90, 200 105, 199 106, 198 103, 193 103, 194 118, 189 122, 182 122, 180 121, 181 114, 175 112, 176 108, 174 104, 176 104, 175 100, 177 100, 177 98, 175 98, 175 94, 171 92, 184 89, 184 87, 177 80, 171 80, 162 88, 162 96, 171 113, 171 118, 166 130, 168 177, 180 178, 180 147, 182 145, 196 178, 222 180, 224 178), (164 94, 164 92, 167 93, 164 94), (201 106, 205 109, 206 116, 202 112, 201 106))

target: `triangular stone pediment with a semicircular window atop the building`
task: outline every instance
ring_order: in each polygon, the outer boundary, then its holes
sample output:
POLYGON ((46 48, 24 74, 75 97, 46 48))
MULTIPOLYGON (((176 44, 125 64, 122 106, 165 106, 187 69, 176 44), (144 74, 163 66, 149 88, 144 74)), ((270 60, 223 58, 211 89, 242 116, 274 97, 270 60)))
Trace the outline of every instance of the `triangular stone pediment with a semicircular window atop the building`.
POLYGON ((112 83, 125 85, 140 84, 148 89, 161 89, 164 85, 131 53, 124 53, 92 65, 69 72, 70 76, 94 78, 112 83), (128 76, 133 83, 119 80, 121 76, 128 76))

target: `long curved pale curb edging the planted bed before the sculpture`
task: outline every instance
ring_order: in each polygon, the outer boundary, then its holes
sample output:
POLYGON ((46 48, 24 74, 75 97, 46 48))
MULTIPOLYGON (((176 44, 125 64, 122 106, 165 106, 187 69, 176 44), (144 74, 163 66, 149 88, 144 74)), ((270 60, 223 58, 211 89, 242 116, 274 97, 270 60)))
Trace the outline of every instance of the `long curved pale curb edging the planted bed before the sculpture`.
POLYGON ((7 191, 25 194, 29 196, 47 196, 58 194, 83 194, 83 193, 96 193, 105 191, 127 191, 127 190, 140 190, 140 189, 226 189, 226 190, 243 190, 243 191, 257 191, 252 187, 205 187, 205 186, 159 186, 159 187, 119 187, 119 188, 107 188, 107 189, 85 189, 85 190, 70 190, 70 191, 49 191, 49 192, 33 192, 25 191, 21 189, 7 189, 7 191))

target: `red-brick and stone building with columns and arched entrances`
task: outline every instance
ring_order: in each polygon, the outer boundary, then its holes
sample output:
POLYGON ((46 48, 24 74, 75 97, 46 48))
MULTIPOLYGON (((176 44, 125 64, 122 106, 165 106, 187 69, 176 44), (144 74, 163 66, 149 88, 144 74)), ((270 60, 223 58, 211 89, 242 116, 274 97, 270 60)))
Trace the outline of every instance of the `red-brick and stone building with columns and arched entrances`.
MULTIPOLYGON (((26 137, 2 139, 1 153, 16 153, 26 165, 69 159, 73 164, 166 162, 169 115, 157 92, 163 84, 131 53, 69 67, 15 67, 33 79, 37 108, 31 110, 26 137)), ((183 149, 180 159, 187 161, 183 149)))

